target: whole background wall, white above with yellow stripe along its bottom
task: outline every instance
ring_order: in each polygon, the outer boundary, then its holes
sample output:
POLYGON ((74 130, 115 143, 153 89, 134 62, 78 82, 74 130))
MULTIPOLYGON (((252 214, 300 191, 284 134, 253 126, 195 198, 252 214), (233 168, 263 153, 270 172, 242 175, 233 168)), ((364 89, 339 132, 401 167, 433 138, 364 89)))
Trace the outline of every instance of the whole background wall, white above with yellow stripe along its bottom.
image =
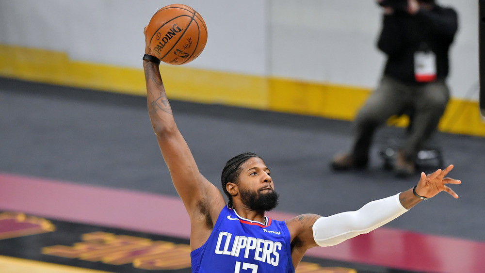
MULTIPOLYGON (((143 28, 165 0, 2 0, 0 75, 143 95, 143 28)), ((185 3, 208 42, 196 62, 162 64, 169 97, 351 120, 376 86, 381 8, 372 0, 185 3)), ((453 5, 452 99, 440 129, 484 135, 478 112, 478 2, 453 5)))

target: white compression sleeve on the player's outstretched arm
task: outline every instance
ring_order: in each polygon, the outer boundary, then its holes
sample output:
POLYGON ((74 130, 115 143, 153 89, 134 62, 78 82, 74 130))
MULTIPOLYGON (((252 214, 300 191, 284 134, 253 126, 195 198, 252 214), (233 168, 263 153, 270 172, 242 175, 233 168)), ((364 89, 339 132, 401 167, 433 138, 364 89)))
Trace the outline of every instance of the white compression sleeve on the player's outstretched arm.
POLYGON ((356 211, 318 218, 313 224, 313 239, 320 246, 336 245, 385 225, 406 211, 398 193, 369 202, 356 211))

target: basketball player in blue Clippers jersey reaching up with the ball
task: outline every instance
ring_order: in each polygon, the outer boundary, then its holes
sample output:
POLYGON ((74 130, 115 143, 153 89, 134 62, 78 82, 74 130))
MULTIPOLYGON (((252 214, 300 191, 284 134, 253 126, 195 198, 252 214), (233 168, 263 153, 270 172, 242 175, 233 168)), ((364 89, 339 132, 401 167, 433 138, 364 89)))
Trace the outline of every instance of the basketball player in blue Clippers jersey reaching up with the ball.
MULTIPOLYGON (((145 32, 146 34, 146 32, 145 32)), ((222 193, 197 169, 180 134, 165 95, 160 61, 146 42, 144 70, 150 120, 173 184, 191 221, 190 246, 194 273, 293 273, 307 249, 331 246, 388 223, 421 200, 441 191, 458 198, 445 184, 453 165, 425 175, 414 189, 372 201, 357 211, 329 217, 302 214, 287 221, 264 216, 278 195, 265 162, 253 153, 227 161, 222 193)), ((324 198, 324 196, 322 196, 324 198)))

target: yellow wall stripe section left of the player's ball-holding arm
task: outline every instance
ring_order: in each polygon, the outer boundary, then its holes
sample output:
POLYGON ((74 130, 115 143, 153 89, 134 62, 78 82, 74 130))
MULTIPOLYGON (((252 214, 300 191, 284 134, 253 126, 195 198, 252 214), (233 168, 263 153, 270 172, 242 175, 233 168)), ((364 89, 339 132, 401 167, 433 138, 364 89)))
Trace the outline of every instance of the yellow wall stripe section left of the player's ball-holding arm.
POLYGON ((81 88, 144 95, 140 69, 88 64, 63 52, 0 45, 0 75, 81 88))

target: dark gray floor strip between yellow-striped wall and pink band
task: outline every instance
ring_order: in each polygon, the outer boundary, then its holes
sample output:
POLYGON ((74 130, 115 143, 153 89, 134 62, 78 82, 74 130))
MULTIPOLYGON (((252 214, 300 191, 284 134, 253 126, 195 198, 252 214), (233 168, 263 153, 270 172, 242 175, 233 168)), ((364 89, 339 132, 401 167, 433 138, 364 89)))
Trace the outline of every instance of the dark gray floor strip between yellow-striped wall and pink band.
MULTIPOLYGON (((355 210, 419 179, 383 169, 379 145, 385 136, 399 136, 399 128, 379 132, 367 170, 334 173, 328 161, 349 145, 349 122, 179 101, 172 109, 201 173, 219 188, 226 160, 259 154, 280 193, 278 211, 355 210)), ((463 182, 453 187, 460 198, 440 193, 387 226, 485 241, 485 138, 439 133, 434 141, 455 166, 449 176, 463 182)), ((144 97, 3 78, 0 172, 177 195, 144 97)))

